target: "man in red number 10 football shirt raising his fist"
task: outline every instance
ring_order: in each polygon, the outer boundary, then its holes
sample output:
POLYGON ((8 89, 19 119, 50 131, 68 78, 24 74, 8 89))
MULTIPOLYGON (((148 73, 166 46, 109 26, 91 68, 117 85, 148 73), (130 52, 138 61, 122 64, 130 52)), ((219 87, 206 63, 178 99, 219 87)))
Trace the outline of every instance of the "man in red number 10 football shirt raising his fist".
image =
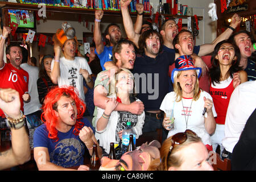
MULTIPOLYGON (((10 45, 6 49, 6 57, 10 63, 3 61, 3 51, 5 47, 5 40, 11 32, 10 27, 3 27, 3 34, 0 40, 0 88, 12 88, 19 92, 20 109, 23 109, 23 101, 30 102, 30 95, 28 94, 28 73, 20 68, 22 63, 22 50, 19 45, 10 45)), ((3 111, 0 109, 0 119, 5 118, 3 111)))

